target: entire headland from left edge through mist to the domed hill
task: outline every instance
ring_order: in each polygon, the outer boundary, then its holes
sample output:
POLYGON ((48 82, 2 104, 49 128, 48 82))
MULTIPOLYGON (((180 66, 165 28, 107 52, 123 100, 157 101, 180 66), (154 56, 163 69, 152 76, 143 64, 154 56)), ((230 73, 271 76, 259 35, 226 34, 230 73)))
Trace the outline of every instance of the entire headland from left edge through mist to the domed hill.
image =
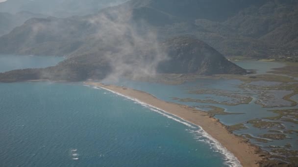
MULTIPOLYGON (((133 45, 140 46, 137 43, 133 45)), ((26 80, 75 82, 87 79, 102 80, 118 74, 144 77, 155 72, 199 75, 247 73, 245 69, 226 60, 208 44, 194 38, 182 36, 156 45, 158 47, 151 45, 136 47, 135 50, 127 52, 129 54, 125 54, 124 50, 119 52, 116 47, 111 49, 112 52, 102 50, 94 54, 76 56, 53 67, 0 73, 0 82, 26 80), (158 52, 162 54, 158 55, 158 52), (106 56, 107 54, 109 56, 106 56)))

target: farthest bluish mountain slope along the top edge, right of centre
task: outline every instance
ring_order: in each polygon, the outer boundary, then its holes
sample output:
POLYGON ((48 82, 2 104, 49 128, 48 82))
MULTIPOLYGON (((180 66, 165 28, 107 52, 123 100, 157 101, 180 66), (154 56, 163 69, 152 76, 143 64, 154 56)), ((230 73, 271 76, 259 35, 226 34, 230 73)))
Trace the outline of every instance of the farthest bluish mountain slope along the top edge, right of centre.
POLYGON ((149 7, 187 20, 224 21, 250 5, 267 0, 130 0, 133 8, 149 7))

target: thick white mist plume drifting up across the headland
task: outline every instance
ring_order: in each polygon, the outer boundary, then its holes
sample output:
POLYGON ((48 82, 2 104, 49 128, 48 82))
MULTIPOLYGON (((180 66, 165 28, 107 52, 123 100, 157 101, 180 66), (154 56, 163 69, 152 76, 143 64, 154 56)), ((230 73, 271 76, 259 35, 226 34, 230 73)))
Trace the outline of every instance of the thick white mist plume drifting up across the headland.
POLYGON ((157 32, 148 28, 146 21, 132 21, 126 8, 111 10, 90 18, 88 21, 98 28, 93 35, 99 45, 108 50, 99 55, 108 60, 112 72, 104 80, 118 80, 123 76, 135 79, 156 74, 161 61, 168 60, 166 49, 160 46, 157 32))

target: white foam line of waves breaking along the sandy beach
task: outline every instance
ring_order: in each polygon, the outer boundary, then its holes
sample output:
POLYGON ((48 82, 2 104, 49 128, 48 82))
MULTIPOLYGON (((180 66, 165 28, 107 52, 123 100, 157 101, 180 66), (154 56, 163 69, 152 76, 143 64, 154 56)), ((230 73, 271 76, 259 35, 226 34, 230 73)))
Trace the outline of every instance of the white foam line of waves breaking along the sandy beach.
POLYGON ((152 111, 158 112, 158 113, 162 114, 163 116, 165 116, 167 118, 170 118, 174 121, 177 121, 177 122, 179 122, 183 125, 189 126, 191 128, 196 128, 196 126, 197 126, 198 127, 198 130, 196 130, 197 135, 201 135, 204 138, 208 139, 208 140, 203 140, 203 141, 199 140, 199 141, 209 144, 211 146, 211 149, 213 148, 213 149, 215 149, 216 152, 220 152, 221 154, 223 154, 224 157, 225 157, 225 165, 228 165, 230 167, 242 167, 239 160, 234 156, 234 154, 232 154, 230 151, 228 151, 219 141, 214 139, 210 134, 208 134, 205 130, 203 130, 203 128, 200 127, 199 125, 194 125, 194 124, 192 124, 192 123, 190 123, 190 122, 188 122, 188 121, 186 121, 186 120, 184 120, 184 119, 182 119, 182 118, 180 118, 180 117, 178 117, 174 114, 168 113, 168 112, 166 112, 166 111, 164 111, 160 108, 157 108, 155 106, 152 106, 150 104, 146 104, 144 102, 141 102, 141 101, 139 101, 135 98, 125 96, 123 94, 120 94, 118 92, 115 92, 113 90, 110 90, 110 89, 107 89, 107 88, 104 88, 104 87, 100 87, 100 88, 102 88, 104 90, 107 90, 109 92, 112 92, 114 94, 117 94, 119 96, 122 96, 126 99, 132 100, 132 101, 134 101, 138 104, 141 104, 142 106, 145 106, 145 107, 151 109, 152 111))

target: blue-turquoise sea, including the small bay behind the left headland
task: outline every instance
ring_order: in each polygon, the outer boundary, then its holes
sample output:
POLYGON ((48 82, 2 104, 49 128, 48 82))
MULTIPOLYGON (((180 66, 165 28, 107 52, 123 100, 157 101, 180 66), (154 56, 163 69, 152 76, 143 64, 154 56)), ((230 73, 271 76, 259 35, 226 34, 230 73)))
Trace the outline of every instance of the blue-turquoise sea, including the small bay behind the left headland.
MULTIPOLYGON (((62 60, 0 55, 0 72, 62 60)), ((171 88, 157 95, 170 97, 171 88)), ((239 166, 200 127, 107 90, 83 83, 0 83, 0 167, 239 166)))

